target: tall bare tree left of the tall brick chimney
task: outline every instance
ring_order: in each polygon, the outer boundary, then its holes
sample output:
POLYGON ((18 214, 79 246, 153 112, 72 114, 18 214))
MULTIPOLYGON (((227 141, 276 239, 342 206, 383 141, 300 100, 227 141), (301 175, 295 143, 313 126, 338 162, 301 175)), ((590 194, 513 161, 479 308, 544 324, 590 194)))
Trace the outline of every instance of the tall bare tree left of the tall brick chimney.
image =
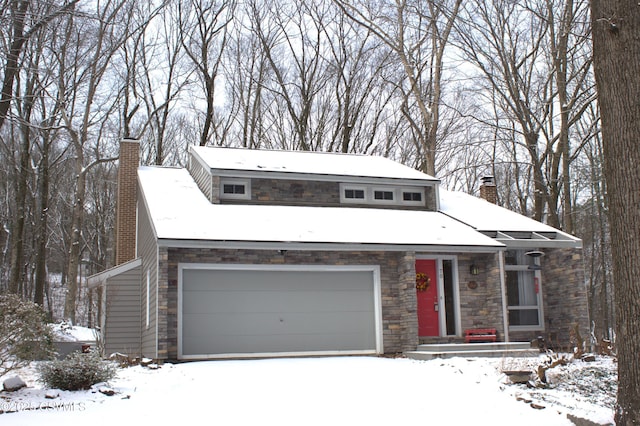
POLYGON ((78 293, 87 172, 96 164, 113 160, 102 155, 107 142, 103 139, 105 124, 115 112, 115 105, 109 101, 113 96, 113 85, 106 77, 114 55, 129 34, 118 27, 127 25, 131 16, 129 6, 129 0, 99 3, 93 14, 84 11, 91 19, 69 16, 63 27, 65 37, 59 52, 58 90, 67 94, 61 116, 74 153, 75 173, 64 316, 72 322, 75 321, 78 293))

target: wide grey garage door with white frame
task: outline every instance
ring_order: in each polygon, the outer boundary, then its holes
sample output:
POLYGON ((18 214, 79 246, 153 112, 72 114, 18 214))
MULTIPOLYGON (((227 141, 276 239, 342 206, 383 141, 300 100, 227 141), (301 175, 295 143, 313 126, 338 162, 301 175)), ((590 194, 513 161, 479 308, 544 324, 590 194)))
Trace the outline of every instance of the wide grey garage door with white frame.
POLYGON ((378 266, 181 264, 181 359, 382 352, 378 266))

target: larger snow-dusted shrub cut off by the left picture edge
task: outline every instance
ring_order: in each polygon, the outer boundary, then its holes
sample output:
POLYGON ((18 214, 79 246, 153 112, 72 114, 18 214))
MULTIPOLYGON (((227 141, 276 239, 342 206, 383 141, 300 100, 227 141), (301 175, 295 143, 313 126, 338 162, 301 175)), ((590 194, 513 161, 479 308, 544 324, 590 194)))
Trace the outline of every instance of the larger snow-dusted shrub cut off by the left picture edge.
POLYGON ((15 294, 0 294, 0 376, 53 353, 44 310, 15 294))

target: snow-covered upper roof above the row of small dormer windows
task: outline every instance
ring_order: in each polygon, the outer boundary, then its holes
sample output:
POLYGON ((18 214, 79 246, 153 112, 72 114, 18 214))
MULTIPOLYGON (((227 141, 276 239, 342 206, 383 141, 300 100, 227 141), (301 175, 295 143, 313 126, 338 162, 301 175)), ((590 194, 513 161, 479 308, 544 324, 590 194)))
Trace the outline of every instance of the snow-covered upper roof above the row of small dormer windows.
POLYGON ((386 178, 438 182, 438 179, 384 157, 316 151, 272 151, 192 146, 191 152, 214 170, 386 178))

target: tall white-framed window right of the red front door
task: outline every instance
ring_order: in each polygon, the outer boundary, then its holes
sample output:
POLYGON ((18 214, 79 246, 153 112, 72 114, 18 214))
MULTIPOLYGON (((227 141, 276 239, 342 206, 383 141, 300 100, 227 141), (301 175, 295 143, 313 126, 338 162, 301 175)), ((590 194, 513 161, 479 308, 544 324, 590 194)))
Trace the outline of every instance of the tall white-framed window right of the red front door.
POLYGON ((505 254, 510 328, 537 330, 541 327, 540 273, 531 268, 534 265, 534 259, 524 250, 509 250, 505 254))

